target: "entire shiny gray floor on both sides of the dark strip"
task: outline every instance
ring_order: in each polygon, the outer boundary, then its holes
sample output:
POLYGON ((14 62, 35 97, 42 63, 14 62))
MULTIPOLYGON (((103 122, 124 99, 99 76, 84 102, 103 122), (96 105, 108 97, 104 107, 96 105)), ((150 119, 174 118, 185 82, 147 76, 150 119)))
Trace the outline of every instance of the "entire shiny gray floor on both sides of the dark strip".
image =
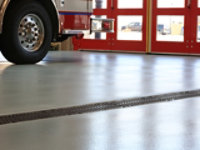
MULTIPOLYGON (((0 116, 200 89, 200 57, 50 52, 0 56, 0 116)), ((199 98, 0 126, 1 149, 199 149, 199 98), (31 147, 30 147, 31 146, 31 147)))

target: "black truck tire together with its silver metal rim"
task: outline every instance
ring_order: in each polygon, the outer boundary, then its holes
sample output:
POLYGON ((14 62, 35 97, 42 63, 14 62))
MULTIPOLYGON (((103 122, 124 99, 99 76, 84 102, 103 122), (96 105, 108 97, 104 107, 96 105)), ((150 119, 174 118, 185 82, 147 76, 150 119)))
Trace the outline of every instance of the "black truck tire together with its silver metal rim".
POLYGON ((34 64, 48 52, 52 26, 45 8, 36 0, 17 1, 6 11, 2 54, 15 64, 34 64))

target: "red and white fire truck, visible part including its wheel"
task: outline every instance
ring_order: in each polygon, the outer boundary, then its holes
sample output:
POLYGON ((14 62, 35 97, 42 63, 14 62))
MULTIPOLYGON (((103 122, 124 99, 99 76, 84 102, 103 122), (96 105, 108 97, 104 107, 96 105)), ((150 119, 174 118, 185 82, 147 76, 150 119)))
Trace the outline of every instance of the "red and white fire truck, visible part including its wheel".
POLYGON ((15 64, 33 64, 45 57, 51 42, 112 32, 113 19, 93 19, 92 5, 92 0, 0 0, 2 54, 15 64))

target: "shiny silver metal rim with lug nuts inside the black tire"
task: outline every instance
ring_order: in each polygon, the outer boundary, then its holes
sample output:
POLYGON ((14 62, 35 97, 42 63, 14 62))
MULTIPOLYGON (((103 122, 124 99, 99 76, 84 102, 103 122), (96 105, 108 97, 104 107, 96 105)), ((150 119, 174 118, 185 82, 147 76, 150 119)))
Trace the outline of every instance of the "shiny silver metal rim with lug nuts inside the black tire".
POLYGON ((26 51, 39 50, 44 42, 44 34, 44 24, 39 16, 28 14, 21 19, 18 27, 18 39, 26 51))

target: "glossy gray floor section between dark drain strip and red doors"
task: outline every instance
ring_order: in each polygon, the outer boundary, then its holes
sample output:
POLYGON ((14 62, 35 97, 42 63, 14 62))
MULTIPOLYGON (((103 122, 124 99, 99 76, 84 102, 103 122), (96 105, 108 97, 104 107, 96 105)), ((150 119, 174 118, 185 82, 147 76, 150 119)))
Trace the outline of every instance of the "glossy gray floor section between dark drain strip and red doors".
POLYGON ((1 60, 0 114, 200 89, 199 57, 50 52, 37 65, 1 60))

